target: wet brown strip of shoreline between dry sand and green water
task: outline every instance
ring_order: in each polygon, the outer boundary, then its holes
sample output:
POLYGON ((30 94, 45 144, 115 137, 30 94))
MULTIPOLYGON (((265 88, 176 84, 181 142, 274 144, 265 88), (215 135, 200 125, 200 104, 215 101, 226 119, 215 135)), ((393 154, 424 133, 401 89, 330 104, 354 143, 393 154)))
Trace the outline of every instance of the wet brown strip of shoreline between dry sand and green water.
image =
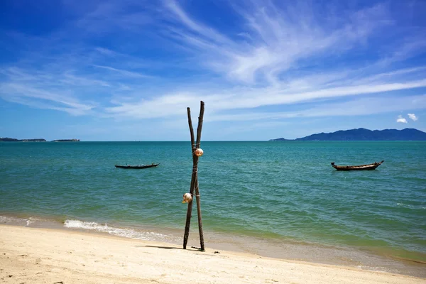
MULTIPOLYGON (((70 233, 81 232, 94 236, 111 236, 119 239, 160 241, 163 244, 182 246, 182 236, 180 236, 180 233, 183 234, 182 229, 158 228, 153 226, 139 226, 137 229, 134 227, 129 229, 129 227, 114 226, 116 224, 111 226, 111 224, 107 225, 70 219, 67 219, 64 223, 58 221, 58 219, 25 218, 23 216, 18 217, 19 215, 5 217, 4 215, 1 214, 0 216, 0 227, 16 226, 30 229, 53 229, 70 233), (6 223, 6 219, 8 218, 10 220, 6 223)), ((416 262, 384 254, 378 255, 368 250, 362 251, 342 246, 219 234, 210 231, 204 232, 204 239, 209 249, 214 250, 249 253, 251 255, 286 261, 302 261, 318 265, 332 265, 356 268, 363 271, 380 271, 426 278, 426 263, 424 262, 416 262)), ((191 246, 200 246, 196 225, 192 227, 188 242, 188 247, 191 246)))

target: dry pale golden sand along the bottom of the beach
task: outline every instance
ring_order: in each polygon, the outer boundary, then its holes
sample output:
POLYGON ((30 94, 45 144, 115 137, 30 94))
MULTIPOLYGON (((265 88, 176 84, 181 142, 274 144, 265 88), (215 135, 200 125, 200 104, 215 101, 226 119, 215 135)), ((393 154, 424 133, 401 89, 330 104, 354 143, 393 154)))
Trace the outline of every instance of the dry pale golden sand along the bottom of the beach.
POLYGON ((426 283, 410 276, 285 261, 80 231, 0 225, 0 283, 426 283))

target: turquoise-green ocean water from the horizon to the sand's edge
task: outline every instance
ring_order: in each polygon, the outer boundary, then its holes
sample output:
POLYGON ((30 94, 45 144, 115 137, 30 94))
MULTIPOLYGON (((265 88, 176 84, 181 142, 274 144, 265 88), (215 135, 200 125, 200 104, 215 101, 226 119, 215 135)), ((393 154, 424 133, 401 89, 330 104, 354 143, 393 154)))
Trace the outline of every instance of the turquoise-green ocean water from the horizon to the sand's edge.
MULTIPOLYGON (((207 247, 426 277, 425 142, 202 142, 202 148, 207 247), (330 165, 381 160, 372 171, 330 165)), ((189 141, 0 143, 0 224, 181 244, 191 171, 189 141), (114 168, 128 163, 160 165, 114 168)), ((191 246, 200 245, 195 208, 191 246)))

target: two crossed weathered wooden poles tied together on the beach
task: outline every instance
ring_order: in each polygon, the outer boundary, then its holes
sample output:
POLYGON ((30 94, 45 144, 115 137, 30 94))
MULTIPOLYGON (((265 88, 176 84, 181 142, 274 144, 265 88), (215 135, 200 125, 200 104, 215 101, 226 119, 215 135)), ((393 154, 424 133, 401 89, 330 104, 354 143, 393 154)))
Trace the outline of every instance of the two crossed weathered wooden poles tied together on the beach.
MULTIPOLYGON (((202 221, 201 221, 201 207, 200 207, 200 190, 198 189, 198 159, 199 157, 195 155, 195 150, 200 148, 201 141, 201 129, 202 129, 202 118, 204 116, 204 102, 200 102, 200 116, 198 116, 198 127, 197 127, 197 141, 194 141, 194 129, 192 129, 192 120, 191 120, 191 109, 187 108, 188 113, 188 124, 190 125, 191 133, 191 149, 192 149, 192 177, 191 177, 191 187, 190 194, 197 198, 197 214, 198 214, 198 229, 200 231, 200 250, 204 251, 204 234, 202 233, 202 221)), ((188 203, 187 209, 187 220, 185 224, 185 234, 183 235, 183 249, 186 249, 188 236, 190 236, 190 224, 191 224, 191 214, 192 214, 192 201, 188 203)))

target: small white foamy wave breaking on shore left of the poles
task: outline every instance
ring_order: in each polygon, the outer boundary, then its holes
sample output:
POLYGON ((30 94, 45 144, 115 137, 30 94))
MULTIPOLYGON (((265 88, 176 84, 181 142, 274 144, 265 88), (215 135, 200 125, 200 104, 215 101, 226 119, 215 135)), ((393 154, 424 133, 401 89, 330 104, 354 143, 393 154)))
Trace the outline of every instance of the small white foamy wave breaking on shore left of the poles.
POLYGON ((65 220, 64 226, 72 229, 86 229, 100 231, 114 236, 124 236, 130 239, 141 239, 145 241, 175 241, 173 236, 154 233, 151 231, 135 231, 134 229, 121 229, 108 224, 99 224, 97 222, 83 222, 80 220, 65 220))

